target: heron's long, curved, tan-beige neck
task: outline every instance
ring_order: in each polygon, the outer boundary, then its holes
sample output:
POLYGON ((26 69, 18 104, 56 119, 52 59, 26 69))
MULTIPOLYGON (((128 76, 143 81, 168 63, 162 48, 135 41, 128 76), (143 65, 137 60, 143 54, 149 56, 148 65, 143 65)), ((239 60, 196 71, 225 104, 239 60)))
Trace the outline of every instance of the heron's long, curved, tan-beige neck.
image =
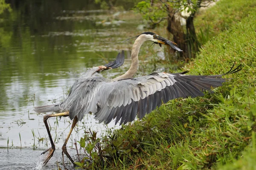
POLYGON ((116 77, 115 79, 113 79, 113 81, 134 77, 134 74, 137 72, 138 67, 139 67, 138 55, 139 55, 140 47, 145 41, 146 40, 142 37, 138 37, 135 40, 134 45, 132 46, 132 50, 131 50, 131 67, 129 68, 128 71, 126 71, 125 74, 123 74, 122 76, 116 77))

